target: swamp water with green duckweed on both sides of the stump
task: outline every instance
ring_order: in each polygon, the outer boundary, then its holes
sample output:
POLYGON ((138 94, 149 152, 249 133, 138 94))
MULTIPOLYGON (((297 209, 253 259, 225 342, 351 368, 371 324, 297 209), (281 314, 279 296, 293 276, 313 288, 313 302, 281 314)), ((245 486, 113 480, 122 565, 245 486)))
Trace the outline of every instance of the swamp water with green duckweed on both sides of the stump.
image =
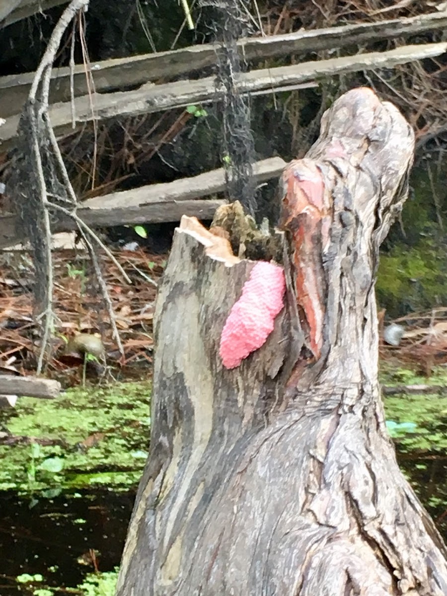
MULTIPOLYGON (((427 380, 398 369, 383 382, 427 380)), ((447 372, 429 382, 447 385, 447 372)), ((447 399, 385 404, 401 468, 447 541, 447 399)), ((0 596, 113 596, 149 431, 147 382, 0 411, 0 596)))

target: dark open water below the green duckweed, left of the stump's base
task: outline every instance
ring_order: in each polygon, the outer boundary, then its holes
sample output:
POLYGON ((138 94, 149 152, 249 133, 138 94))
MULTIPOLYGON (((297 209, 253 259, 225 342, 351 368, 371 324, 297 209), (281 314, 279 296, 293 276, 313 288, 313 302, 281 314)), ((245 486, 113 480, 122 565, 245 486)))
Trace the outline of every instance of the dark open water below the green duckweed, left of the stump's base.
POLYGON ((30 508, 14 492, 0 493, 0 596, 32 594, 17 584, 23 573, 40 573, 49 588, 75 587, 95 571, 92 551, 101 572, 119 564, 135 493, 74 495, 40 499, 30 508))

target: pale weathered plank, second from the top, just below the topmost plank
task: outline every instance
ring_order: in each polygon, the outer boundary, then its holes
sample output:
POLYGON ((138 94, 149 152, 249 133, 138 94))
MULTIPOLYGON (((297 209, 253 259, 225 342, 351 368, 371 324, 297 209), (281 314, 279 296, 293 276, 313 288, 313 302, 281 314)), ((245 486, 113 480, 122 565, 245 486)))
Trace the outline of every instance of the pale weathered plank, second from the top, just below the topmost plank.
MULTIPOLYGON (((238 76, 238 89, 241 93, 256 91, 274 92, 275 88, 287 85, 299 85, 317 80, 328 75, 341 75, 358 70, 391 68, 414 60, 421 60, 443 54, 447 44, 408 45, 386 52, 369 52, 355 56, 343 56, 330 60, 319 60, 282 66, 274 69, 253 70, 238 76)), ((148 83, 135 91, 110 94, 94 94, 77 97, 74 101, 76 122, 80 125, 92 119, 92 106, 98 120, 114 116, 135 116, 172 108, 185 107, 189 104, 219 100, 215 77, 198 80, 181 80, 173 83, 153 85, 148 83)), ((49 109, 49 116, 55 134, 73 132, 72 104, 70 102, 54 104, 49 109)), ((11 147, 17 134, 20 116, 6 118, 0 126, 0 150, 11 147)))

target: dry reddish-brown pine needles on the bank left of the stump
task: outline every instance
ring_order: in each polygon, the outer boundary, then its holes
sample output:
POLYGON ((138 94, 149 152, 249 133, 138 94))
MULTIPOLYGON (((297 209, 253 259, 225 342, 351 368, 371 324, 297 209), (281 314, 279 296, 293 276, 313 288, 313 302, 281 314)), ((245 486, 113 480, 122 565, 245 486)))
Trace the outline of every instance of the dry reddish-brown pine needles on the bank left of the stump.
MULTIPOLYGON (((122 280, 116 266, 100 255, 104 279, 116 313, 116 323, 125 350, 120 358, 101 294, 95 285, 86 253, 74 250, 54 252, 54 312, 57 325, 52 342, 49 373, 64 370, 58 353, 76 333, 100 333, 108 364, 121 366, 152 362, 152 319, 156 283, 167 255, 114 250, 114 256, 132 280, 122 280)), ((0 363, 10 356, 22 368, 33 368, 39 344, 39 330, 33 322, 32 272, 26 253, 9 253, 0 267, 0 363)))

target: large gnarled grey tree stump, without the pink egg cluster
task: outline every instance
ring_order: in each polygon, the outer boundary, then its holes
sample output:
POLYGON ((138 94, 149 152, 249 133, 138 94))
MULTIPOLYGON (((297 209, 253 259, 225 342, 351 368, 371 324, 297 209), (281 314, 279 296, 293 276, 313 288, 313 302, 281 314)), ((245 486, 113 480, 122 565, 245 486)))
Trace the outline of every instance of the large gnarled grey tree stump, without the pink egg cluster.
POLYGON ((237 205, 210 231, 182 220, 117 596, 447 594, 446 547, 396 463, 377 378, 378 249, 413 153, 401 113, 354 89, 285 167, 283 231, 256 231, 237 205), (285 305, 228 370, 222 330, 254 258, 283 267, 285 305))

